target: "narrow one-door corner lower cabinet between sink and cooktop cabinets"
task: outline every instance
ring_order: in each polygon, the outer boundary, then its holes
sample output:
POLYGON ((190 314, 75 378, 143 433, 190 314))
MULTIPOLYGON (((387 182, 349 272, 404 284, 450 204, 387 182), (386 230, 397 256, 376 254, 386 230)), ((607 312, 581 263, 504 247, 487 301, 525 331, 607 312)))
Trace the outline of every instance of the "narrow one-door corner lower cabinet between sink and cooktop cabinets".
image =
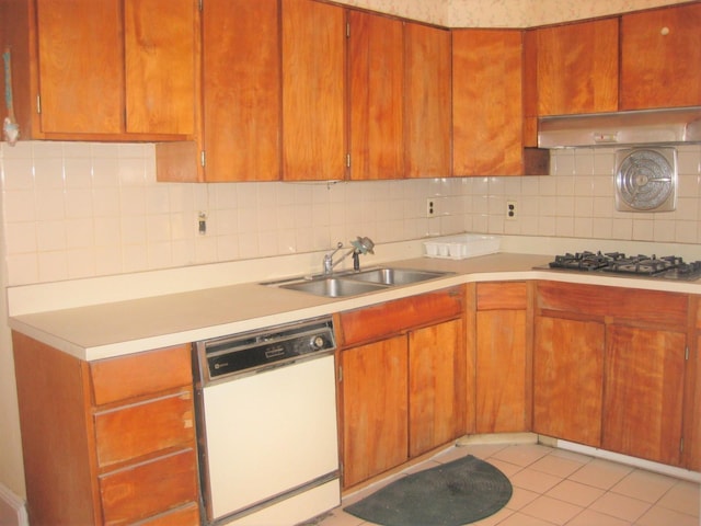
POLYGON ((475 313, 475 431, 530 430, 531 345, 529 285, 480 283, 475 313))

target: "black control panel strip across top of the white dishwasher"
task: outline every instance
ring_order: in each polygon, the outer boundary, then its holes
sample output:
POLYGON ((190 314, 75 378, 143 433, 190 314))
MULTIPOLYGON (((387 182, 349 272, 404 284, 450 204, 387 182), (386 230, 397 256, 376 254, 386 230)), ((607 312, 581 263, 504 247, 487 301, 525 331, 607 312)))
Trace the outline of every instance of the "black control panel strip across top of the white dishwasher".
POLYGON ((205 382, 260 373, 335 348, 330 316, 195 343, 205 382))

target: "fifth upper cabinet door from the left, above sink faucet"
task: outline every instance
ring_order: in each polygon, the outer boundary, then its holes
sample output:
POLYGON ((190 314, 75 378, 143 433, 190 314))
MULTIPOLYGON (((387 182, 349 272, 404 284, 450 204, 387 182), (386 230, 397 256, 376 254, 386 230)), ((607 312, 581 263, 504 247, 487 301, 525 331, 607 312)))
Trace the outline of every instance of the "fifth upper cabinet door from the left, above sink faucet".
POLYGON ((348 20, 350 179, 403 178, 403 24, 359 11, 348 20))

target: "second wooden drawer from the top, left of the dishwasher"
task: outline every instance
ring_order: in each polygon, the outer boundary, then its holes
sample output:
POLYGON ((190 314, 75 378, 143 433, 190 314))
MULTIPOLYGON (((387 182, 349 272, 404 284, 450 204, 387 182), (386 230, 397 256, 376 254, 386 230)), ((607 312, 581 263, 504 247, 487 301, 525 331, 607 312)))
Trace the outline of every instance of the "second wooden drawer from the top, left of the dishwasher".
POLYGON ((194 441, 192 390, 95 413, 97 464, 138 458, 194 441))

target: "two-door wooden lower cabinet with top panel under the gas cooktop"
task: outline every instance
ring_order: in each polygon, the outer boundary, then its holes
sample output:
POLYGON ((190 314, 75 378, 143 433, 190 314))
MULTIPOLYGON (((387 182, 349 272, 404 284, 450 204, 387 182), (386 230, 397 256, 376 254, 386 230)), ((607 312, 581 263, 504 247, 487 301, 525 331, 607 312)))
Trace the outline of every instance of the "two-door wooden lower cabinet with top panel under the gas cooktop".
POLYGON ((685 294, 539 282, 533 430, 685 466, 685 294))

